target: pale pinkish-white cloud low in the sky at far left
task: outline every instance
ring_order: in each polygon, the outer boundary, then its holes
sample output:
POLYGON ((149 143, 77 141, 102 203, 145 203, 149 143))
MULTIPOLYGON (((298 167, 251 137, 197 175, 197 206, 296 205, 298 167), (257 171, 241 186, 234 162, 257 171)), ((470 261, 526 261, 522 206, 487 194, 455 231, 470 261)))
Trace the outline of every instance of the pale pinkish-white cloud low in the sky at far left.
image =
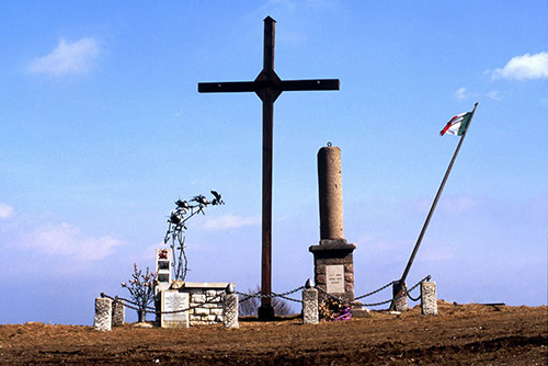
POLYGON ((87 237, 79 228, 62 222, 45 225, 22 236, 22 244, 27 249, 69 258, 79 262, 98 261, 114 252, 114 248, 124 242, 112 237, 87 237))

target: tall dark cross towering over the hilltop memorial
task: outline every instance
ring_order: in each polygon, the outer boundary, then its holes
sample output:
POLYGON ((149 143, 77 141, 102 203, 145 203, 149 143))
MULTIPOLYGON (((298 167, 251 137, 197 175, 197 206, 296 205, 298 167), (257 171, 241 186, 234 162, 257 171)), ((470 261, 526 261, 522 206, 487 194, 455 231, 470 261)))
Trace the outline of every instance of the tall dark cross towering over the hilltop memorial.
MULTIPOLYGON (((264 20, 263 69, 254 81, 199 82, 198 92, 255 92, 263 101, 263 207, 262 207, 262 265, 261 294, 272 291, 272 127, 274 102, 284 91, 339 90, 338 79, 281 80, 274 71, 274 30, 272 18, 264 20)), ((271 298, 262 297, 259 319, 274 317, 271 298)))

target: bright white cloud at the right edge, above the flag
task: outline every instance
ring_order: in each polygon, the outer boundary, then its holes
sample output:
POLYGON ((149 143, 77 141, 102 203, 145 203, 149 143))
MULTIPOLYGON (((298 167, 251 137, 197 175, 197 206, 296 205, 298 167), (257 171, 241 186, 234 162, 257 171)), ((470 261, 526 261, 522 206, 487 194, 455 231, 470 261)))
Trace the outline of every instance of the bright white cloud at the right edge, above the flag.
POLYGON ((493 71, 492 79, 527 80, 548 78, 548 53, 513 57, 506 66, 493 71))

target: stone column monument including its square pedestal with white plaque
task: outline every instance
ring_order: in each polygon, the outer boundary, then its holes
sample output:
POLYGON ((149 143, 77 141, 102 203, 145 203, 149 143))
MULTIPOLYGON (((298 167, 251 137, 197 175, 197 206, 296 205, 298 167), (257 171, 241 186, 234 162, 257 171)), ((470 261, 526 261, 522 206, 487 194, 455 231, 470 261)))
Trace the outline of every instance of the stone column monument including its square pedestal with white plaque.
MULTIPOLYGON (((349 244, 343 232, 341 149, 331 144, 318 151, 320 199, 320 243, 311 245, 316 286, 349 301, 354 299, 356 244, 349 244)), ((319 294, 320 301, 324 296, 319 294)))

